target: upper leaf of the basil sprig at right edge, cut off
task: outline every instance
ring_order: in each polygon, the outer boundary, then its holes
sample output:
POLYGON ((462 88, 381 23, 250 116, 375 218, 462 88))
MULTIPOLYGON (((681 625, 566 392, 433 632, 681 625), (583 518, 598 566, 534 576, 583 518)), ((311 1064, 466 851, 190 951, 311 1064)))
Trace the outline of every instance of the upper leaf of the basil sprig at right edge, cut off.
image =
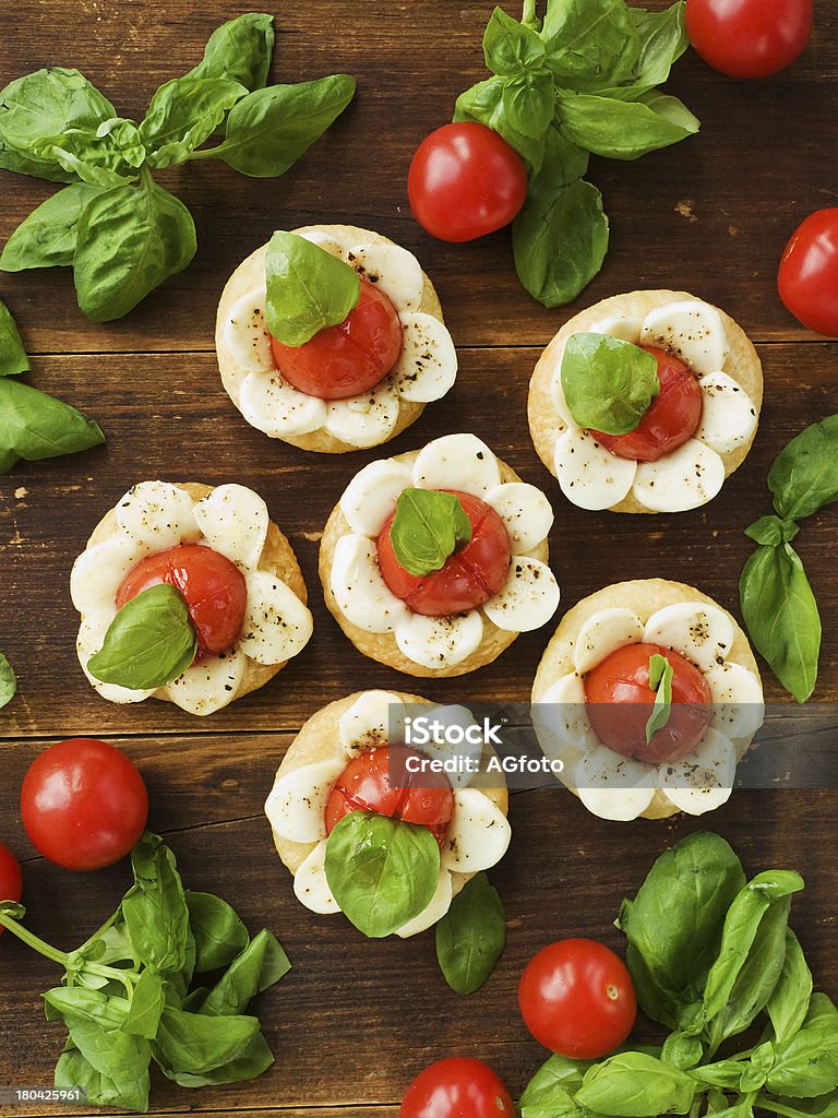
POLYGON ((802 520, 838 501, 838 415, 792 438, 774 458, 768 485, 785 519, 802 520))

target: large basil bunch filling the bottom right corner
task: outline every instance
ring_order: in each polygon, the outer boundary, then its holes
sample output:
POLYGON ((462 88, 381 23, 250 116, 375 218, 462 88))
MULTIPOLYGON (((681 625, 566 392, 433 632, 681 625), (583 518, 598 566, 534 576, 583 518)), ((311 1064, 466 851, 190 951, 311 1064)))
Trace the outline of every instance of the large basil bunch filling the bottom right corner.
POLYGON ((600 1061, 551 1057, 521 1097, 521 1118, 835 1118, 838 1008, 812 993, 789 928, 802 888, 789 870, 746 881, 712 833, 664 853, 623 901, 617 927, 638 1002, 668 1036, 600 1061), (721 1045, 760 1023, 755 1044, 720 1058, 721 1045))

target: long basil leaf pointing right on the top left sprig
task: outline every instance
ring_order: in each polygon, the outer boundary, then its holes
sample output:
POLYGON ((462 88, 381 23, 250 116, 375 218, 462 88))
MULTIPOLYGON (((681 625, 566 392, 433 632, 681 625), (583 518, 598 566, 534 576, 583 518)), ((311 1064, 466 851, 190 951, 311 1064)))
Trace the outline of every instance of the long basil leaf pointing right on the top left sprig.
POLYGON ((230 110, 223 142, 193 158, 222 159, 254 178, 285 174, 354 95, 355 79, 349 74, 257 89, 230 110))

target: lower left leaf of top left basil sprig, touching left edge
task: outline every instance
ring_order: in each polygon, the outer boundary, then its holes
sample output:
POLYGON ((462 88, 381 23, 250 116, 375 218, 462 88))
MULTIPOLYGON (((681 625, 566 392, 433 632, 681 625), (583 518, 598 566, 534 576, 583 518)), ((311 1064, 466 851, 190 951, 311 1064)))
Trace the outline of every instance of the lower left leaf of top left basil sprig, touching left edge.
POLYGON ((6 241, 0 269, 51 268, 73 264, 76 231, 85 206, 102 192, 101 187, 74 182, 23 218, 6 241))

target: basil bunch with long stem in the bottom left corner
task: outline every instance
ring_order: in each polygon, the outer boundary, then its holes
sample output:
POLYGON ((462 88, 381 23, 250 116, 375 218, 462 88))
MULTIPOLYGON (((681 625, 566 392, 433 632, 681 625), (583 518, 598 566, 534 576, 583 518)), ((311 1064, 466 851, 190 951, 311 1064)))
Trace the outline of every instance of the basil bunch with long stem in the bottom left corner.
POLYGON ((87 1101, 149 1109, 149 1065, 181 1087, 254 1079, 274 1062, 248 1003, 291 968, 269 931, 253 939, 234 909, 183 889, 174 855, 146 832, 131 856, 134 884, 114 915, 75 951, 59 951, 0 904, 0 925, 65 968, 44 995, 48 1021, 69 1035, 56 1087, 87 1101), (213 975, 215 973, 215 975, 213 975), (211 984, 196 976, 213 975, 211 984))

